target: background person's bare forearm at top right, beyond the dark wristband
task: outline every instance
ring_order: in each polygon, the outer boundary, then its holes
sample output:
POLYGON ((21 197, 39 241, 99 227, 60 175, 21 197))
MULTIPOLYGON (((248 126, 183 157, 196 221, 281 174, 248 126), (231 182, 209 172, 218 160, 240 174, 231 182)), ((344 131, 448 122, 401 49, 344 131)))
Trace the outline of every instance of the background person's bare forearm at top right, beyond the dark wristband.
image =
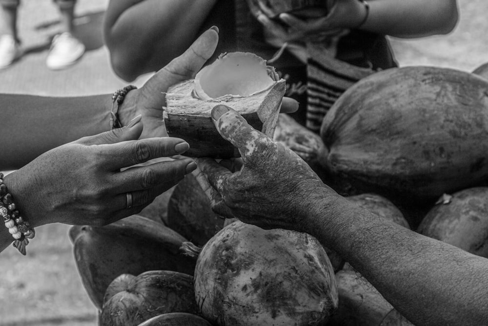
POLYGON ((455 0, 371 0, 361 29, 401 38, 447 34, 456 25, 455 0))

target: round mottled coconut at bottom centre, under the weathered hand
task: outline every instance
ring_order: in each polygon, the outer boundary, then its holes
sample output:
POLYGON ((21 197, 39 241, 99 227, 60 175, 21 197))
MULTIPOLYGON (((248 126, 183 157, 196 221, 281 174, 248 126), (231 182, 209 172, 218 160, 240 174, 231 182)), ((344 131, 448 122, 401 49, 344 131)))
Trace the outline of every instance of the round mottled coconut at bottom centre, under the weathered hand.
POLYGON ((236 221, 202 248, 202 315, 216 325, 318 325, 337 307, 334 271, 313 237, 236 221))

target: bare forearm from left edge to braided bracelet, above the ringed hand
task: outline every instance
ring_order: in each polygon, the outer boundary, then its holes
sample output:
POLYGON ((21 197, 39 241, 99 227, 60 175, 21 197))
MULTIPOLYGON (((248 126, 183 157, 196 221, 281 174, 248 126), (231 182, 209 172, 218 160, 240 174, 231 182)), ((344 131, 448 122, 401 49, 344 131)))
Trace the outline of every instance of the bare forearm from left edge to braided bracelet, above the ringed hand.
POLYGON ((18 169, 52 148, 110 129, 110 95, 0 95, 0 170, 18 169))

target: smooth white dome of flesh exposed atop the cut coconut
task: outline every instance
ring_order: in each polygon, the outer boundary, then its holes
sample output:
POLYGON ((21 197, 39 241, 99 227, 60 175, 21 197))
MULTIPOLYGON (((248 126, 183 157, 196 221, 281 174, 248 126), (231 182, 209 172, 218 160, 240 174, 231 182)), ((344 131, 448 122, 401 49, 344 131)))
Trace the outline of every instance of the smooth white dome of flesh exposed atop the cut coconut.
POLYGON ((195 76, 195 93, 201 99, 226 95, 249 96, 274 84, 266 61, 253 53, 233 52, 222 55, 195 76))

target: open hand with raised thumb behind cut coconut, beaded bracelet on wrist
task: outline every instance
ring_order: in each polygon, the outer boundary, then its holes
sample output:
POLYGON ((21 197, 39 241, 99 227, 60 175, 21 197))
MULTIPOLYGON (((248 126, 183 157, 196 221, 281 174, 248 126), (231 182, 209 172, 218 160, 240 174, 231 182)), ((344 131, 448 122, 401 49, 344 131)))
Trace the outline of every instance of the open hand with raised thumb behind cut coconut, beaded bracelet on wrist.
POLYGON ((163 107, 166 106, 164 92, 176 83, 194 78, 214 53, 218 40, 216 27, 206 30, 181 56, 159 70, 144 86, 128 92, 122 107, 125 114, 121 117, 122 124, 142 114, 144 130, 141 138, 167 136, 162 121, 163 107))

